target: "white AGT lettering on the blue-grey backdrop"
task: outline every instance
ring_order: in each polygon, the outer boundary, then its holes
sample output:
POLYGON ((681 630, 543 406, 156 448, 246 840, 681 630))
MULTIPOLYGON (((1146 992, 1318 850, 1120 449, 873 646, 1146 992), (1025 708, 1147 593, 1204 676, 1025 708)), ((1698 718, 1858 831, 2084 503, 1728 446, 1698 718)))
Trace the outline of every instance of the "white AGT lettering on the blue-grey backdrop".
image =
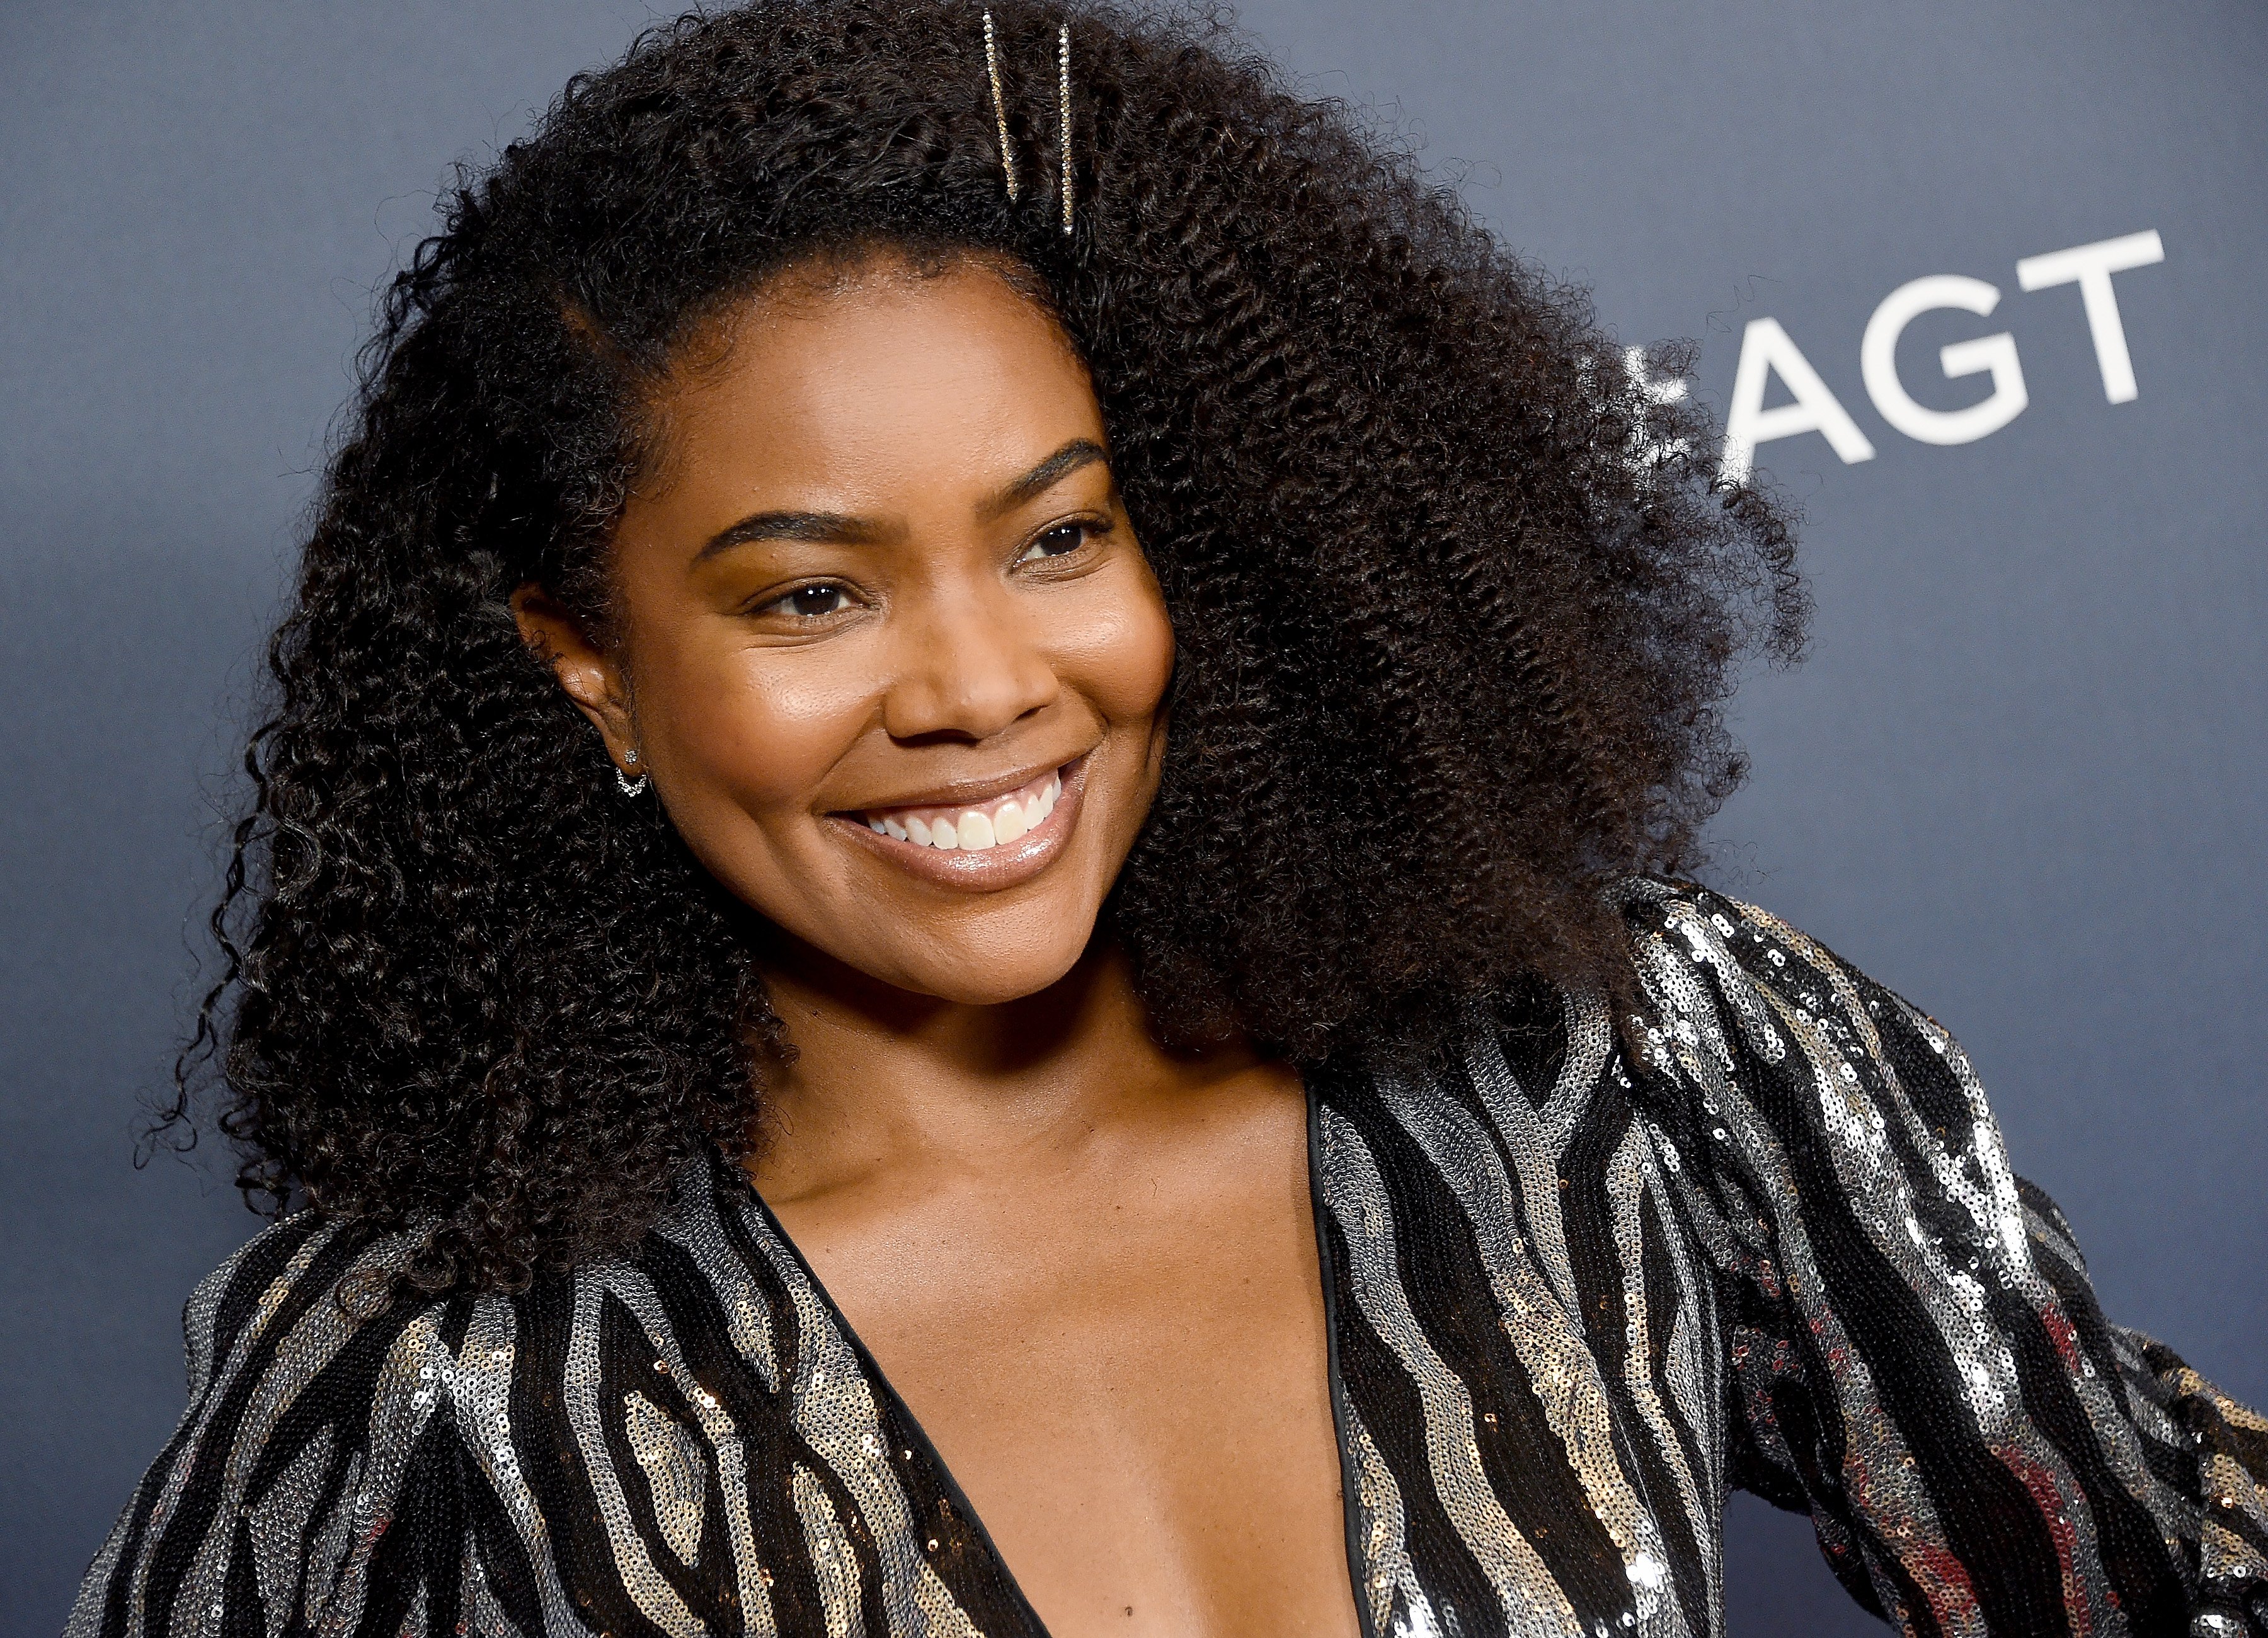
MULTIPOLYGON (((2102 370, 2102 397, 2112 404, 2127 404, 2136 395, 2134 361, 2127 356, 2125 324, 2118 322, 2112 275, 2148 268, 2164 259, 2166 247, 2152 229, 2093 245, 2050 250, 2016 263, 2019 290, 2080 286, 2080 309, 2087 313, 2087 331, 2093 336, 2096 363, 2102 370)), ((1882 297, 1860 338, 1857 368, 1867 383, 1867 397, 1873 399, 1873 408, 1894 431, 1926 445, 1966 445, 1989 438, 2023 413, 2030 397, 2023 390, 2016 338, 2007 331, 1957 340, 1937 352, 1937 365, 1948 379, 1971 374, 1989 379, 1991 392, 1975 404, 1950 411, 1930 408, 1916 402, 1905 390, 1905 381, 1898 379, 1898 338, 1919 315, 1950 309, 1984 318, 1996 306, 2000 306, 2000 286, 1960 272, 1932 272, 1926 279, 1901 284, 1882 297)), ((1642 349, 1633 347, 1624 363, 1633 383, 1656 404, 1685 397, 1687 383, 1681 379, 1647 379, 1642 349)), ((1842 399, 1819 379, 1794 336, 1780 329, 1776 318, 1753 318, 1740 338, 1740 370, 1733 377, 1733 402, 1724 417, 1724 476, 1744 481, 1755 467, 1760 445, 1796 433, 1819 433, 1846 465, 1873 461, 1873 442, 1851 420, 1842 399), (1765 408, 1774 377, 1789 402, 1765 408)))

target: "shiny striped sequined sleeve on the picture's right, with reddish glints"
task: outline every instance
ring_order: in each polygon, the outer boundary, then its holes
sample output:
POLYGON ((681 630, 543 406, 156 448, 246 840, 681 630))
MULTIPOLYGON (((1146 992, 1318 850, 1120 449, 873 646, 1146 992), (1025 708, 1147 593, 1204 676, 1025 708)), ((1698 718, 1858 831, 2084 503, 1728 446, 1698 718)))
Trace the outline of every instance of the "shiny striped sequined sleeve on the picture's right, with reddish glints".
POLYGON ((1910 1633, 2268 1638, 2268 1422, 2102 1316, 1953 1037, 1749 905, 1631 921, 1730 1481, 1910 1633))

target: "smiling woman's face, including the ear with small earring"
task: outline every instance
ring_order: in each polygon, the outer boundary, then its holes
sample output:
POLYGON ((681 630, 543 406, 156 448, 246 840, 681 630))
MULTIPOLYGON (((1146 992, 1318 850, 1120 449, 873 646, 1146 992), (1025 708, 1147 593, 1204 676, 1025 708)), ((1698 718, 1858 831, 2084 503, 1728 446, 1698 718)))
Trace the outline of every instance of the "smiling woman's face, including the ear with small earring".
POLYGON ((615 644, 535 590, 522 628, 776 926, 948 1000, 1052 985, 1157 792, 1173 672, 1084 365, 975 261, 789 275, 719 340, 658 399, 615 644))

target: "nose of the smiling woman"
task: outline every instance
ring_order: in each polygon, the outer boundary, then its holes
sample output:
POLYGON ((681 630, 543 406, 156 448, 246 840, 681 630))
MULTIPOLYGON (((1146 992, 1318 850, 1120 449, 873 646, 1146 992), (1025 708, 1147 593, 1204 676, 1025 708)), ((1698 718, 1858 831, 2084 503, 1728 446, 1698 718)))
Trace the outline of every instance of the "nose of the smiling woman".
POLYGON ((1007 588, 921 599, 900 615, 903 660, 882 699, 894 740, 989 740, 1055 703, 1059 681, 1041 626, 1007 588))

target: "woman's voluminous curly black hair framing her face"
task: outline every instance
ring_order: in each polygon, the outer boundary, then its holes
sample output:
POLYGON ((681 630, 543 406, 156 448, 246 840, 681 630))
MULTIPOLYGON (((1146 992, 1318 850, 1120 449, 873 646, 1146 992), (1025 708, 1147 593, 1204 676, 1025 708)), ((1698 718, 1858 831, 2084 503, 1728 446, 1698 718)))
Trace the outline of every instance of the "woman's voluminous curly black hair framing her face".
POLYGON ((422 1223, 417 1284, 517 1289, 755 1141, 755 912, 619 799, 508 599, 606 631, 655 381, 819 256, 1007 268, 1093 374, 1179 644, 1105 912, 1161 1039, 1309 1064, 1624 971, 1601 889, 1685 864, 1740 665, 1801 647, 1785 517, 1583 290, 1218 11, 991 16, 1018 200, 975 7, 787 0, 578 75, 392 279, 163 1116, 218 1069, 254 1205, 422 1223))

